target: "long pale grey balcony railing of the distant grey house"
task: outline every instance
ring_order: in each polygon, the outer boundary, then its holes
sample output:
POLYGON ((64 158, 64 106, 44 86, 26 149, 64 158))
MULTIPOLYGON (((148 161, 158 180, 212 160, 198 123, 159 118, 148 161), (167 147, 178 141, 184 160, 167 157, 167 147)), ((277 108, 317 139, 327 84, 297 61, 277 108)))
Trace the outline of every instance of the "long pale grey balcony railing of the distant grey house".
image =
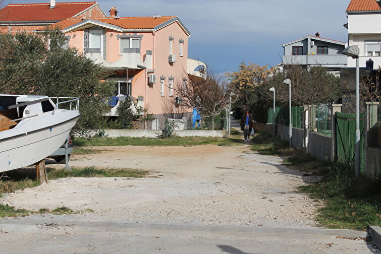
POLYGON ((324 67, 346 67, 347 56, 341 54, 333 55, 284 55, 285 65, 321 65, 324 67))

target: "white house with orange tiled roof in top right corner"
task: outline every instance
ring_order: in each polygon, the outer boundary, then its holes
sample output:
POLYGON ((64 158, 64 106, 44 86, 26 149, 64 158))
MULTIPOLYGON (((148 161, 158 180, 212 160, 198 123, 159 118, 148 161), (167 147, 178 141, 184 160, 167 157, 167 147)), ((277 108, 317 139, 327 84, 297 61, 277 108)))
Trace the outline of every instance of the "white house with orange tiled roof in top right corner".
MULTIPOLYGON (((381 6, 376 0, 352 0, 346 10, 348 17, 348 45, 358 45, 360 67, 370 58, 373 68, 381 66, 381 6)), ((356 67, 355 59, 348 57, 348 67, 356 67)))

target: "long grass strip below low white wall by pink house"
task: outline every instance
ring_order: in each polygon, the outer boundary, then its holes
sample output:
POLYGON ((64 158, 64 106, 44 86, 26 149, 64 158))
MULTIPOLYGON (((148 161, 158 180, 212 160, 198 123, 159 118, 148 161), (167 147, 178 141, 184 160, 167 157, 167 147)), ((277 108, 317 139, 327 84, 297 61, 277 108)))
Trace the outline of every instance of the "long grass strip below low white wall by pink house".
POLYGON ((231 139, 215 137, 171 137, 166 139, 156 138, 101 138, 90 139, 76 138, 73 143, 76 146, 198 146, 198 145, 222 145, 229 146, 237 143, 235 133, 231 139))

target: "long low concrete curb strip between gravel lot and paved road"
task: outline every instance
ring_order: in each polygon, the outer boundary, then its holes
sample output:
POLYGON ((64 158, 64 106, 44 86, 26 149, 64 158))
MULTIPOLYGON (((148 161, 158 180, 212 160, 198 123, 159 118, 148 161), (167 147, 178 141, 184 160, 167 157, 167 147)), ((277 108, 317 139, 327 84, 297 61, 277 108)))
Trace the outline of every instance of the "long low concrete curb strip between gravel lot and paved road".
POLYGON ((111 234, 148 234, 148 235, 187 235, 200 237, 258 237, 277 236, 290 237, 366 237, 365 231, 336 229, 300 229, 300 228, 270 228, 251 226, 208 226, 192 224, 153 224, 131 222, 78 222, 58 219, 1 219, 0 230, 9 232, 70 232, 73 233, 111 233, 111 234))

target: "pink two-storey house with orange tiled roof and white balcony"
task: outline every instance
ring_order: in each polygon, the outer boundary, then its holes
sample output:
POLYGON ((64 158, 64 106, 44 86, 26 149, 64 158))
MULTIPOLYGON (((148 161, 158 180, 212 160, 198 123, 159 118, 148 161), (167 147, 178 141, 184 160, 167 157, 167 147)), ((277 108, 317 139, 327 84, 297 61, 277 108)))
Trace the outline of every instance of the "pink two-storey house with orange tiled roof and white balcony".
POLYGON ((117 14, 113 7, 111 17, 69 18, 54 26, 63 31, 68 46, 115 70, 107 78, 116 86, 111 115, 119 101, 134 98, 135 106, 148 108, 158 119, 149 128, 162 126, 165 118, 190 119, 192 109, 181 105, 173 88, 188 82, 188 75, 201 77, 206 65, 188 58, 188 29, 177 16, 117 14))

